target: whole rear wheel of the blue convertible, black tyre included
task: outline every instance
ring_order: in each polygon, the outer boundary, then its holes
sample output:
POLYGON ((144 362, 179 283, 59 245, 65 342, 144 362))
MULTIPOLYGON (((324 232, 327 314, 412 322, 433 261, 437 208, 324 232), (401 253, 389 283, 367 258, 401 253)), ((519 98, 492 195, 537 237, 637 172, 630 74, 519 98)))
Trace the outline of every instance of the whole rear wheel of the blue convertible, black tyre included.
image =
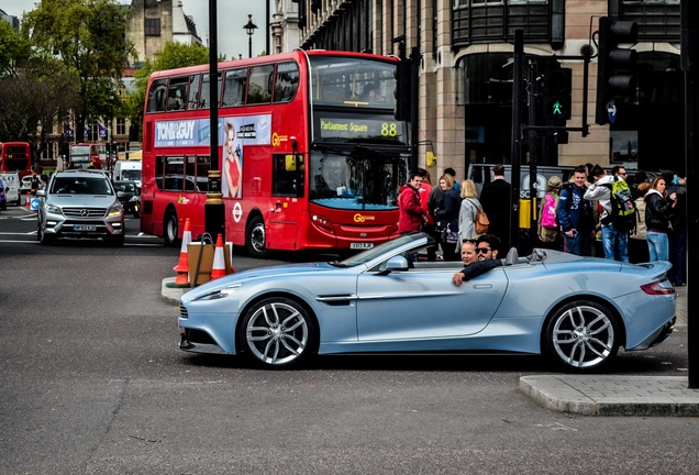
POLYGON ((544 327, 543 345, 556 365, 573 373, 602 368, 620 346, 617 317, 603 305, 577 300, 551 316, 544 327))

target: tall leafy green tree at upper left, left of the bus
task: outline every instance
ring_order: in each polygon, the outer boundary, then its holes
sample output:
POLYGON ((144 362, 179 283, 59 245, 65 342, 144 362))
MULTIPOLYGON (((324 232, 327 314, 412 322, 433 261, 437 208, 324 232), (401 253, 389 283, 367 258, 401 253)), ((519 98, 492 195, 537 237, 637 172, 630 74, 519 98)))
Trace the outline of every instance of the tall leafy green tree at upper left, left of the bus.
POLYGON ((87 119, 108 115, 123 69, 135 57, 126 42, 127 10, 114 0, 42 0, 23 27, 36 48, 55 55, 77 77, 76 139, 87 119))

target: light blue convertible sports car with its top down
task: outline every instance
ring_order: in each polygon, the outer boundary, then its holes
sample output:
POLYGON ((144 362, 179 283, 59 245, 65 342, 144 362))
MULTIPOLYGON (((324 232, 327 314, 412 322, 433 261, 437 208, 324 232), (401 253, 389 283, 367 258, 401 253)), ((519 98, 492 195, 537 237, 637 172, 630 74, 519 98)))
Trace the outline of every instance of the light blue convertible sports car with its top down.
POLYGON ((341 262, 232 274, 185 294, 180 344, 292 367, 314 354, 499 351, 599 369, 620 346, 645 350, 675 323, 670 264, 510 251, 461 287, 461 263, 412 262, 434 244, 408 234, 341 262))

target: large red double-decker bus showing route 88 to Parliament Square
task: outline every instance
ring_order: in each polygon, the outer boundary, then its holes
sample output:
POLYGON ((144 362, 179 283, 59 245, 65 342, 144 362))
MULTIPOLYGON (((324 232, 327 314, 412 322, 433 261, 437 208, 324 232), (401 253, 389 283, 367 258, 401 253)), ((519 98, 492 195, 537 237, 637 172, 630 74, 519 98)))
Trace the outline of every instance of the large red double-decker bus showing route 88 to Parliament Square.
MULTIPOLYGON (((397 235, 410 157, 397 59, 296 51, 219 65, 225 234, 251 255, 362 250, 397 235)), ((144 113, 143 232, 204 232, 208 65, 154 73, 144 113)), ((214 236, 215 239, 215 236, 214 236)))

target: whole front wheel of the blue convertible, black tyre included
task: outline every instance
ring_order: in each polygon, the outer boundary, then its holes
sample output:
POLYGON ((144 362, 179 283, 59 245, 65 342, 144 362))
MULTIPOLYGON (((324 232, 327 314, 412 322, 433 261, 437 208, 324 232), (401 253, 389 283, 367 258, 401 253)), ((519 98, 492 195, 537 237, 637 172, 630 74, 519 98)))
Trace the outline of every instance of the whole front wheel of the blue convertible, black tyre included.
POLYGON ((287 297, 269 297, 243 316, 238 347, 255 366, 289 368, 314 351, 315 334, 315 320, 302 305, 287 297))

